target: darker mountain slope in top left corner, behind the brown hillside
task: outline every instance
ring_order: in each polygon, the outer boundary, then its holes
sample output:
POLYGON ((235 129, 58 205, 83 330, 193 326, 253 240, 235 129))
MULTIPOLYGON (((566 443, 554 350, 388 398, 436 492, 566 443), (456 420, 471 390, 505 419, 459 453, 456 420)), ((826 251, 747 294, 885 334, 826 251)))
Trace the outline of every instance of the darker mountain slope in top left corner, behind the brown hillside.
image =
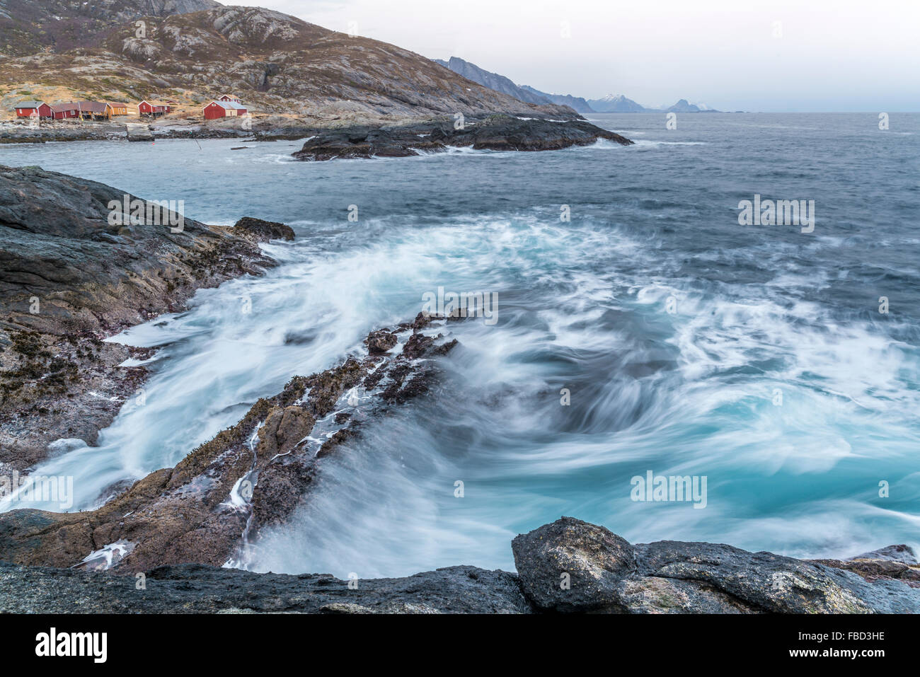
POLYGON ((214 0, 0 0, 0 52, 25 56, 91 47, 101 33, 141 17, 220 6, 214 0))

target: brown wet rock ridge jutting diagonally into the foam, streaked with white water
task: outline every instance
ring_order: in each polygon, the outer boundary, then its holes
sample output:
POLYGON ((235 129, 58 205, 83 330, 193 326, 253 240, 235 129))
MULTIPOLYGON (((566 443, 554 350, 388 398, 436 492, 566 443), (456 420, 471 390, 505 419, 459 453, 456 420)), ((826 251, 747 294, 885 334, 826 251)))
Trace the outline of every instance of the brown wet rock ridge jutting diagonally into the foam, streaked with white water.
POLYGON ((308 495, 322 458, 357 434, 355 413, 366 419, 426 392, 436 373, 431 357, 456 345, 437 331, 444 322, 420 314, 374 332, 372 353, 295 376, 178 465, 97 510, 0 514, 0 560, 120 573, 245 561, 259 530, 284 523, 308 495), (389 354, 397 341, 402 350, 389 354))

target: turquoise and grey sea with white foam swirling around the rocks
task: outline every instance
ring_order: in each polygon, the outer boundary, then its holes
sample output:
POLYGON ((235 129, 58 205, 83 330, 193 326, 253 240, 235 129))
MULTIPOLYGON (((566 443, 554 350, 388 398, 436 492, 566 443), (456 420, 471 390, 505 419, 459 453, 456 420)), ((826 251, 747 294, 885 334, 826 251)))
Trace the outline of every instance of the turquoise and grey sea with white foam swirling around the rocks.
POLYGON ((443 287, 497 293, 497 323, 452 325, 443 382, 324 459, 249 568, 513 569, 512 537, 560 515, 796 557, 920 545, 920 114, 593 121, 637 144, 316 164, 295 142, 0 145, 0 164, 298 235, 264 277, 121 335, 160 348, 144 405, 37 472, 92 507, 443 287), (813 232, 739 224, 755 194, 813 200, 813 232), (705 507, 634 500, 649 472, 705 476, 705 507))

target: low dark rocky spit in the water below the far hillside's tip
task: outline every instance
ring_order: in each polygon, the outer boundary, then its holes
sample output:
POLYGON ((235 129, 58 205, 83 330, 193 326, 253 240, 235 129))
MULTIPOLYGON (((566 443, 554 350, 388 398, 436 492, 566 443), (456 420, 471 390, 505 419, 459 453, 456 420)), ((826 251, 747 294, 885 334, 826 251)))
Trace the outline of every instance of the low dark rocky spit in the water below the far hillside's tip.
POLYGON ((588 145, 598 139, 623 145, 633 143, 584 120, 558 122, 493 115, 485 120, 467 120, 463 129, 454 128, 453 120, 440 120, 398 127, 326 130, 317 132, 292 155, 298 160, 408 157, 443 152, 451 146, 494 151, 546 151, 588 145))

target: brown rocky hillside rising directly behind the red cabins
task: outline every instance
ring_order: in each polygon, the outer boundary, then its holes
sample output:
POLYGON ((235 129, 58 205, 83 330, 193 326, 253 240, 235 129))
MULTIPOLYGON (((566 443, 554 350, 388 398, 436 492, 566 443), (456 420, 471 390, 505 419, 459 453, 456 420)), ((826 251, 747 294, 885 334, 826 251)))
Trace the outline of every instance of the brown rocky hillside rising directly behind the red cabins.
MULTIPOLYGON (((57 2, 34 0, 42 7, 57 2)), ((159 2, 175 8, 201 0, 159 2)), ((144 38, 135 36, 132 21, 119 23, 120 16, 121 10, 104 15, 113 25, 91 46, 0 59, 0 104, 8 111, 22 98, 172 98, 180 113, 200 114, 208 98, 229 91, 258 112, 336 124, 456 113, 577 117, 572 109, 525 103, 478 85, 395 45, 259 7, 157 17, 146 21, 144 38)), ((29 40, 39 41, 40 29, 31 30, 29 40)))

